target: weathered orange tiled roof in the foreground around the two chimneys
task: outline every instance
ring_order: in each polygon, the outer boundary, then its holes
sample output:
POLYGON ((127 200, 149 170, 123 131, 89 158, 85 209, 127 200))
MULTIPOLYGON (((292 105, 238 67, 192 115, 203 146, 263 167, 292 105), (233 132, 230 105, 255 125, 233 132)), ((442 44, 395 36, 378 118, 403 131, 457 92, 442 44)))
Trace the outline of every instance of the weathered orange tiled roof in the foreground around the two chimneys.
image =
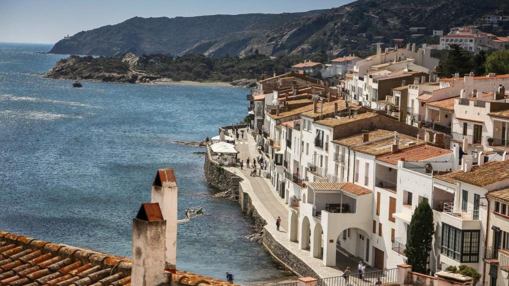
MULTIPOLYGON (((188 272, 172 274, 172 280, 181 277, 184 285, 232 285, 188 272)), ((130 286, 131 260, 0 231, 0 285, 130 286)))

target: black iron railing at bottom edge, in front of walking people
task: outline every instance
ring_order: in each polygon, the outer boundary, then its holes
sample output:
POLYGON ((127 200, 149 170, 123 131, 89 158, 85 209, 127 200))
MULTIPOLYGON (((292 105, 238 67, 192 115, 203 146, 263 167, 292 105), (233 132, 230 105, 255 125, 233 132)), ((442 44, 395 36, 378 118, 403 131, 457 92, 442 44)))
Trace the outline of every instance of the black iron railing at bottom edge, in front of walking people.
POLYGON ((372 286, 378 279, 381 284, 398 282, 398 268, 322 278, 318 279, 317 286, 372 286))

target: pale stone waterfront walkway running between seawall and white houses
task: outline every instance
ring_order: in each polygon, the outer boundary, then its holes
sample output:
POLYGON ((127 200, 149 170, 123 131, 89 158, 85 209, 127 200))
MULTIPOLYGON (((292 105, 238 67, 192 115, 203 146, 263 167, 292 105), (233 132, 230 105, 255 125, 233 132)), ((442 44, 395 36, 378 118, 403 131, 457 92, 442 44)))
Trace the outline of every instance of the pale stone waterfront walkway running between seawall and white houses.
MULTIPOLYGON (((246 169, 245 167, 247 157, 252 160, 253 157, 256 158, 259 156, 256 151, 254 138, 250 134, 247 134, 247 132, 244 132, 244 139, 239 139, 236 147, 239 151, 238 157, 244 160, 244 169, 240 170, 240 168, 235 167, 228 167, 227 169, 243 179, 240 183, 242 190, 249 194, 253 207, 256 208, 258 214, 268 223, 265 225, 265 231, 269 232, 277 242, 295 254, 321 278, 343 275, 340 269, 324 266, 321 259, 313 258, 309 250, 300 249, 297 242, 291 242, 288 239, 288 206, 285 205, 284 201, 274 191, 274 188, 270 184, 270 180, 260 177, 251 177, 249 174, 252 168, 246 169), (275 220, 277 216, 281 217, 280 231, 276 230, 275 220)), ((354 270, 356 270, 356 268, 354 270)))

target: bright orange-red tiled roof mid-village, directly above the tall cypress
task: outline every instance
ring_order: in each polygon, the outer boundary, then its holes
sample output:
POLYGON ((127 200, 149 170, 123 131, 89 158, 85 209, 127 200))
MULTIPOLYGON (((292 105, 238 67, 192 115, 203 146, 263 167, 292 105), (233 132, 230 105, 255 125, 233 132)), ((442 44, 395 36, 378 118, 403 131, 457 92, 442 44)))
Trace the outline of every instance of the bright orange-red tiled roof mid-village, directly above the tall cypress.
POLYGON ((453 152, 447 149, 437 148, 429 145, 422 145, 415 148, 406 149, 398 153, 380 156, 377 158, 377 160, 392 165, 398 165, 399 160, 408 162, 419 162, 451 153, 453 152))

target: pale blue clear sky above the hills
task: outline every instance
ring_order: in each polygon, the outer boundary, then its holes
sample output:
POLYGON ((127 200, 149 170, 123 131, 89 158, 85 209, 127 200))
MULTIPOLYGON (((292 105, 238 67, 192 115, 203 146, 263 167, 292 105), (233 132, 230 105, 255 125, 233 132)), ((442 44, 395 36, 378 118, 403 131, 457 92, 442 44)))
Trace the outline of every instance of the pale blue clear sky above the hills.
POLYGON ((129 18, 303 12, 352 0, 0 0, 0 42, 53 44, 129 18))

